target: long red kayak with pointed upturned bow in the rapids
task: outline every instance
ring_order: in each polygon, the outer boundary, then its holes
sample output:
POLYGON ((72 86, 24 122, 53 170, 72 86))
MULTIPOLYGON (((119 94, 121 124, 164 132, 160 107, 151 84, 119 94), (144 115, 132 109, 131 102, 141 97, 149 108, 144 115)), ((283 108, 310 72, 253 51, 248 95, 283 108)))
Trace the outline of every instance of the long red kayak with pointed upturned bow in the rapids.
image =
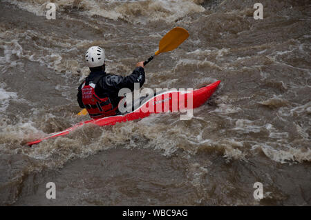
POLYGON ((87 123, 93 123, 97 126, 113 126, 117 122, 142 119, 144 117, 148 117, 150 114, 161 112, 176 112, 182 110, 184 110, 185 112, 185 110, 189 108, 198 108, 199 106, 202 106, 202 104, 205 103, 205 101, 207 101, 209 97, 211 97, 211 94, 213 94, 218 88, 219 83, 220 81, 216 81, 214 83, 209 84, 208 86, 204 86, 202 88, 193 90, 192 92, 187 92, 186 90, 185 92, 178 90, 170 90, 168 92, 156 94, 151 99, 144 100, 140 104, 140 107, 134 110, 133 112, 115 115, 111 117, 105 117, 102 119, 92 119, 88 121, 83 121, 61 132, 55 132, 37 141, 29 142, 27 143, 27 145, 32 146, 33 144, 44 141, 45 139, 50 139, 54 137, 63 136, 65 134, 69 134, 73 130, 80 128, 87 123), (189 97, 192 97, 193 100, 192 105, 189 104, 188 101, 189 97))

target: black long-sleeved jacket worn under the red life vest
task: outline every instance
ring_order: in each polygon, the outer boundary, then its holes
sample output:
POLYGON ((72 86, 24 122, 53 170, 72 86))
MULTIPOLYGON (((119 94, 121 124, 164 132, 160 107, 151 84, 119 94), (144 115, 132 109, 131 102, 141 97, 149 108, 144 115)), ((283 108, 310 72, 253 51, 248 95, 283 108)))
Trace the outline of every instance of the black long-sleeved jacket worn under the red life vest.
MULTIPOLYGON (((91 72, 88 77, 86 77, 85 82, 86 85, 90 81, 97 81, 95 86, 95 93, 98 97, 104 98, 109 97, 111 103, 113 104, 113 108, 117 106, 120 99, 122 97, 118 96, 119 90, 122 88, 129 88, 131 91, 134 90, 134 83, 140 83, 140 88, 144 84, 144 68, 138 67, 130 74, 129 76, 122 77, 114 74, 107 74, 104 71, 100 72, 91 72)), ((83 82, 84 83, 84 82, 83 82)), ((79 103, 80 108, 85 108, 82 102, 82 85, 78 88, 77 93, 77 101, 79 103)))

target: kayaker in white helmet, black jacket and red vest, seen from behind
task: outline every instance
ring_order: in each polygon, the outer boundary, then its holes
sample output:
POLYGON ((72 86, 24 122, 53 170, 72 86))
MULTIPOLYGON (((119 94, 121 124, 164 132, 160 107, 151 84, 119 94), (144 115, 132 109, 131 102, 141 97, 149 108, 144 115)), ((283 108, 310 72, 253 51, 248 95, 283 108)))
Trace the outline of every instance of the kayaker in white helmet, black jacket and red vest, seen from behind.
POLYGON ((93 46, 86 51, 85 61, 91 72, 78 88, 77 101, 80 108, 86 108, 92 119, 120 114, 118 103, 123 97, 119 90, 134 90, 134 83, 144 84, 144 62, 138 62, 132 74, 126 77, 105 72, 104 49, 93 46))

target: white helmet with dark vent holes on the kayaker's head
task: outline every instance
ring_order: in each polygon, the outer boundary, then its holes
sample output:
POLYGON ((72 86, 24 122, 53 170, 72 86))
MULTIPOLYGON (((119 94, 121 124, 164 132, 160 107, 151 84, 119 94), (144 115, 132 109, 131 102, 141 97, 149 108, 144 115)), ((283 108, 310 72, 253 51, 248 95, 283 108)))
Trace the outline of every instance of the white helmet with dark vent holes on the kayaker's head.
POLYGON ((103 66, 105 62, 105 50, 97 46, 88 48, 85 54, 85 61, 88 67, 103 66))

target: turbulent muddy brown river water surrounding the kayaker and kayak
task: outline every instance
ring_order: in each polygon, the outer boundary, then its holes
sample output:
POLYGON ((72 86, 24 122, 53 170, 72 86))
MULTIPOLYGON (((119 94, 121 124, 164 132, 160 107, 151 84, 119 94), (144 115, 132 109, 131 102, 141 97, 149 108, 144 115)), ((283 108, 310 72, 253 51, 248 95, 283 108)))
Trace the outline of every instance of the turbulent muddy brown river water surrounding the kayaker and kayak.
POLYGON ((59 0, 51 20, 47 1, 0 1, 0 204, 310 206, 310 1, 261 0, 256 20, 258 1, 59 0), (144 87, 221 80, 191 120, 153 114, 25 145, 88 119, 76 94, 90 46, 126 75, 176 26, 189 39, 146 66, 144 87))

